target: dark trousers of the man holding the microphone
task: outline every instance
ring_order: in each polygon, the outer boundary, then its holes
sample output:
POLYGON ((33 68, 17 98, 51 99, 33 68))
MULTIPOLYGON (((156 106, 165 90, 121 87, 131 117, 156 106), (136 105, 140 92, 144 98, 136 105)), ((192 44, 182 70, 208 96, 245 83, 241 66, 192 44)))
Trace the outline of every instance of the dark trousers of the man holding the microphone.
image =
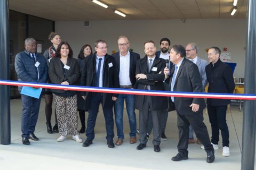
POLYGON ((188 154, 189 124, 194 129, 196 137, 204 145, 205 151, 207 152, 213 150, 207 128, 203 122, 202 113, 180 115, 180 113, 177 111, 177 115, 179 129, 179 143, 177 147, 179 152, 188 154))

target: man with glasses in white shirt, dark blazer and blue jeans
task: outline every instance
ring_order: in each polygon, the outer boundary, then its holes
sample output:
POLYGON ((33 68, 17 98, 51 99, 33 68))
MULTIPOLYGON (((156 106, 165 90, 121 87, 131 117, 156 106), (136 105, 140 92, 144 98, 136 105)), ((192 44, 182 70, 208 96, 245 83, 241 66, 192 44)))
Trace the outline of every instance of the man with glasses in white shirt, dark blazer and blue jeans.
MULTIPOLYGON (((126 36, 120 36, 117 40, 119 52, 113 54, 116 60, 117 72, 119 74, 120 88, 123 89, 134 89, 136 82, 135 70, 136 62, 140 59, 140 55, 137 53, 129 52, 129 39, 126 36)), ((136 143, 136 115, 134 112, 134 95, 119 94, 118 99, 115 101, 115 121, 117 129, 117 141, 116 145, 122 145, 124 140, 124 99, 126 104, 126 111, 129 118, 130 124, 130 143, 136 143)))

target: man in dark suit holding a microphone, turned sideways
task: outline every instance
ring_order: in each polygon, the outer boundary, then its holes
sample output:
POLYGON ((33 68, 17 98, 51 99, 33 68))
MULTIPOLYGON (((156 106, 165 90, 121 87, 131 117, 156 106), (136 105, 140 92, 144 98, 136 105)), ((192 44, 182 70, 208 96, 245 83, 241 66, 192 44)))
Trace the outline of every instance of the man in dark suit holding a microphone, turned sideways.
MULTIPOLYGON (((186 50, 181 45, 174 45, 170 52, 170 61, 174 64, 170 74, 170 90, 185 92, 203 92, 202 80, 198 67, 187 60, 186 50)), ((169 70, 165 68, 165 77, 169 70)), ((176 109, 178 116, 179 143, 178 154, 172 157, 173 161, 188 159, 189 124, 194 129, 197 138, 205 146, 207 163, 214 161, 214 150, 211 145, 207 128, 203 123, 203 109, 205 108, 202 98, 171 97, 170 111, 176 109)))

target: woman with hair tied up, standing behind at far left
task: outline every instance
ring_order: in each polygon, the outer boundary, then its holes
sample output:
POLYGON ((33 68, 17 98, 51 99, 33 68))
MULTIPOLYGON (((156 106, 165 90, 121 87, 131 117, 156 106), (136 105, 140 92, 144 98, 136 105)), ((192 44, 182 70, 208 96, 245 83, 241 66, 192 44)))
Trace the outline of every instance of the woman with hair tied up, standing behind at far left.
MULTIPOLYGON (((51 32, 48 39, 51 41, 52 46, 45 50, 44 57, 47 60, 47 64, 49 66, 49 63, 51 62, 52 58, 56 55, 56 49, 58 45, 61 42, 60 35, 56 32, 51 32)), ((51 80, 49 79, 47 83, 51 83, 51 80)), ((57 123, 57 117, 56 117, 56 111, 54 110, 55 115, 55 125, 52 129, 51 124, 51 117, 52 117, 52 92, 51 89, 45 89, 45 117, 46 117, 46 127, 48 133, 58 133, 58 123, 57 123)))

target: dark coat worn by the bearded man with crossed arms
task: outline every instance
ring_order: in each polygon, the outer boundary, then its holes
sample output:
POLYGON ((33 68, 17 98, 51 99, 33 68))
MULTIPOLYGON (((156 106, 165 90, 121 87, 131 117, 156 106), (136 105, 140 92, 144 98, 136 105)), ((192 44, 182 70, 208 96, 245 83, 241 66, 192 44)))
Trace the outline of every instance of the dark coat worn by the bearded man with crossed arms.
MULTIPOLYGON (((164 91, 164 73, 163 70, 165 68, 165 61, 162 58, 156 57, 150 72, 148 72, 148 56, 146 55, 144 58, 138 60, 136 64, 136 74, 146 74, 147 79, 137 80, 138 87, 137 89, 146 90, 147 86, 150 85, 150 90, 163 90, 164 91), (156 67, 157 71, 152 71, 152 68, 156 67), (159 72, 161 72, 159 74, 159 72)), ((135 96, 135 108, 140 110, 142 109, 142 104, 145 96, 137 95, 135 96)), ((167 109, 167 97, 162 96, 151 96, 151 106, 150 109, 152 111, 160 111, 167 109)))

